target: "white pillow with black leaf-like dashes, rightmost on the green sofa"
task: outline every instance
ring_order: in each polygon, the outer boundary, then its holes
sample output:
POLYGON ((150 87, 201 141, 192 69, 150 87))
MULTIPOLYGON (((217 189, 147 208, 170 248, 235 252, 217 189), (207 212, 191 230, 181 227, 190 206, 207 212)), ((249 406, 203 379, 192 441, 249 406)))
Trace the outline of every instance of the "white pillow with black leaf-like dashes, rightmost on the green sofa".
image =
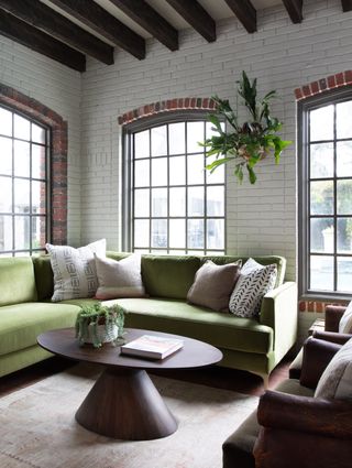
MULTIPOLYGON (((260 265, 258 263, 256 264, 260 265)), ((260 268, 251 269, 251 271, 244 264, 230 297, 230 312, 238 317, 246 318, 258 315, 262 300, 268 291, 273 290, 276 275, 276 264, 260 265, 260 268), (248 273, 243 274, 243 270, 248 273)))

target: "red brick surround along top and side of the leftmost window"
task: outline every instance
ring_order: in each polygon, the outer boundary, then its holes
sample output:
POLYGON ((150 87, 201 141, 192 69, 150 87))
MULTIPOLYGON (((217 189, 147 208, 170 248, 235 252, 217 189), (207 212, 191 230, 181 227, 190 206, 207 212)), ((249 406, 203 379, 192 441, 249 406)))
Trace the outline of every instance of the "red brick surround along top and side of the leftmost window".
POLYGON ((0 105, 9 106, 52 131, 52 239, 53 243, 67 242, 67 122, 48 107, 0 84, 0 105))

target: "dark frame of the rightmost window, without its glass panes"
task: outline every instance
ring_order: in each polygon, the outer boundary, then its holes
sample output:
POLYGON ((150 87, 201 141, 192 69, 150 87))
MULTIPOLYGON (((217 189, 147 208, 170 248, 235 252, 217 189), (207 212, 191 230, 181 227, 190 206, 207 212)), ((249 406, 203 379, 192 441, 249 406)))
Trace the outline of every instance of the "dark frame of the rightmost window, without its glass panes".
MULTIPOLYGON (((337 105, 343 101, 352 100, 352 87, 346 86, 344 88, 333 89, 320 95, 302 99, 298 102, 297 106, 297 193, 298 193, 298 292, 301 300, 321 300, 321 301, 334 301, 334 300, 351 300, 352 293, 339 292, 339 291, 319 291, 319 290, 309 290, 309 255, 311 253, 310 248, 310 151, 309 151, 309 112, 311 110, 319 109, 320 107, 326 107, 329 105, 337 105)), ((336 119, 336 112, 334 112, 336 119)), ((351 138, 352 139, 352 138, 351 138)), ((337 139, 336 135, 336 120, 334 120, 334 134, 333 134, 333 146, 336 152, 337 142, 340 139, 337 139)), ((342 139, 343 140, 343 139, 342 139)), ((334 160, 336 161, 336 160, 334 160)), ((336 173, 334 164, 334 174, 333 177, 334 186, 334 210, 332 215, 327 215, 327 217, 336 219, 337 214, 337 198, 336 198, 336 186, 337 181, 343 179, 343 177, 338 177, 336 173)), ((352 177, 349 177, 352 178, 352 177)), ((336 221, 334 221, 336 225, 336 221)), ((336 236, 334 236, 336 242, 336 236)), ((330 253, 329 253, 330 254, 330 253)), ((334 251, 331 254, 333 257, 334 269, 333 269, 333 282, 337 284, 337 257, 340 253, 337 251, 337 246, 334 244, 334 251)))

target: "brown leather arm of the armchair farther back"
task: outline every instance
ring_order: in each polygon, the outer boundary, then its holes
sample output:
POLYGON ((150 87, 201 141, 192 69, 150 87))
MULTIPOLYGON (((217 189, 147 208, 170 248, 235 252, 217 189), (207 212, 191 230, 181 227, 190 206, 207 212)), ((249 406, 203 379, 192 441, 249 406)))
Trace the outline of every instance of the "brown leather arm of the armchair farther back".
POLYGON ((304 345, 304 356, 299 382, 315 389, 332 357, 342 345, 309 337, 304 345))

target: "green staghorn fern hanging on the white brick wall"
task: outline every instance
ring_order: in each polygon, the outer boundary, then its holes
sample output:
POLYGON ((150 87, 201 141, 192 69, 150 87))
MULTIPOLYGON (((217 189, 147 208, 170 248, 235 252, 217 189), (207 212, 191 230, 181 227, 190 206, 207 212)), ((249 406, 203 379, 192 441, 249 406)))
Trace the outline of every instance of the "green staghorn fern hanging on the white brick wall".
POLYGON ((243 98, 250 120, 239 123, 238 112, 234 111, 228 100, 215 96, 217 104, 216 113, 208 117, 213 124, 216 134, 200 143, 207 149, 207 156, 216 155, 216 160, 206 167, 213 172, 222 164, 234 161, 234 175, 240 182, 243 181, 243 171, 246 170, 251 184, 256 181, 253 167, 267 155, 275 157, 278 164, 282 151, 292 141, 284 141, 277 132, 282 122, 271 115, 270 104, 275 98, 276 91, 267 92, 262 100, 256 95, 256 78, 251 83, 245 72, 238 83, 238 95, 243 98), (223 129, 222 122, 226 128, 223 129))

